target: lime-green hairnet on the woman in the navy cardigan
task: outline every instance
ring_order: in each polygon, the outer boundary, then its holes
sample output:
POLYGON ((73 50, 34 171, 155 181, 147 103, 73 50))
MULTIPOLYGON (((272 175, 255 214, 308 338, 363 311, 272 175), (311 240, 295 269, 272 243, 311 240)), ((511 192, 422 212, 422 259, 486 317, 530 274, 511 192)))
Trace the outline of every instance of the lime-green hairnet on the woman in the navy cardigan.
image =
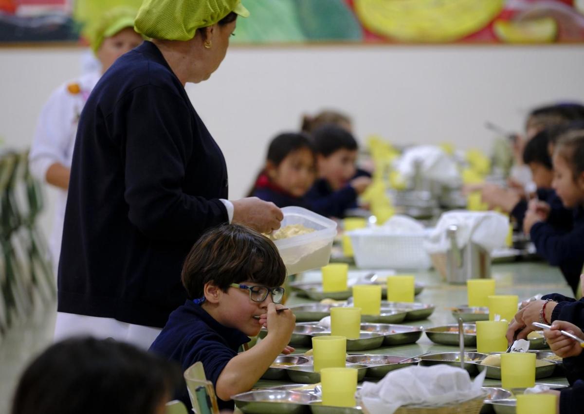
POLYGON ((231 12, 249 16, 241 0, 144 0, 134 30, 152 39, 186 41, 231 12))

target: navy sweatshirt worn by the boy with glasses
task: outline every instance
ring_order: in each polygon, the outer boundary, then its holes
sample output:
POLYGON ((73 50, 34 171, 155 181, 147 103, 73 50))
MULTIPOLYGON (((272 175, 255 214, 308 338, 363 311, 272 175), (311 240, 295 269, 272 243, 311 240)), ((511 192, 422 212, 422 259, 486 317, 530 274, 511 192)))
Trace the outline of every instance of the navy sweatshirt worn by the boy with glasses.
MULTIPOLYGON (((203 363, 207 380, 217 385, 223 368, 249 338, 241 330, 228 328, 215 321, 200 305, 187 300, 168 318, 162 332, 152 342, 150 350, 180 364, 183 371, 196 362, 203 363)), ((185 387, 176 396, 192 408, 185 387)), ((217 398, 219 409, 233 409, 233 401, 217 398)))

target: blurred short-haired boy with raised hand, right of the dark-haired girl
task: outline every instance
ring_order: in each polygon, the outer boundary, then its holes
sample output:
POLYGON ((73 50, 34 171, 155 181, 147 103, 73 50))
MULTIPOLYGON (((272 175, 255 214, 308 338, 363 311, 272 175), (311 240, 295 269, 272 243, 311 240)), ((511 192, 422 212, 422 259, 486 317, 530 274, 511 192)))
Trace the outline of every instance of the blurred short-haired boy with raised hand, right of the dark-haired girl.
POLYGON ((355 177, 357 141, 344 128, 325 125, 312 133, 317 152, 319 178, 306 194, 314 211, 343 218, 348 208, 357 207, 357 197, 371 184, 367 176, 355 177))

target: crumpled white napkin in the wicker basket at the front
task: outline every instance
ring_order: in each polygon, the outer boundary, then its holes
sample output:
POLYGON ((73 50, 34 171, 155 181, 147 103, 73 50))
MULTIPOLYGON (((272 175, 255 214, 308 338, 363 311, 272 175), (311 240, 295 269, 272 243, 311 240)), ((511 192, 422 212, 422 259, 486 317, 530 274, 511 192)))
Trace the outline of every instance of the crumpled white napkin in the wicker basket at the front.
POLYGON ((377 382, 363 382, 360 396, 371 414, 392 414, 402 405, 436 406, 482 394, 486 370, 471 381, 466 370, 440 364, 391 371, 377 382))

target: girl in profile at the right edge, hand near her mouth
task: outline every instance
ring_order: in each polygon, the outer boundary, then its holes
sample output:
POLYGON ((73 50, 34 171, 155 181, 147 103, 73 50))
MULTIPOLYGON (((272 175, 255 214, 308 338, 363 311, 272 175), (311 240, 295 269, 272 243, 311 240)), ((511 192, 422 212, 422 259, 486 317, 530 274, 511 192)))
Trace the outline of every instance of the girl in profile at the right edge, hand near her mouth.
POLYGON ((559 266, 568 284, 576 291, 584 265, 584 129, 568 131, 559 138, 554 152, 552 187, 565 208, 573 209, 573 228, 558 231, 548 221, 550 209, 536 200, 530 202, 523 221, 537 253, 550 265, 559 266))

